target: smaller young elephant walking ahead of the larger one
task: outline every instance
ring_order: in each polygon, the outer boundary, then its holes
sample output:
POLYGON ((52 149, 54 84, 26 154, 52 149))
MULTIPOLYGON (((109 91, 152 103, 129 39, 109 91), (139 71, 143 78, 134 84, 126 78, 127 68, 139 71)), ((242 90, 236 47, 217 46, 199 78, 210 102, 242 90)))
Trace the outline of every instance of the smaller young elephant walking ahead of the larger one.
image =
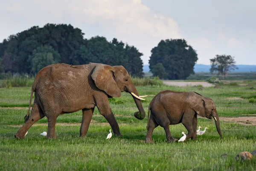
POLYGON ((186 139, 196 139, 197 114, 208 119, 213 117, 217 131, 222 138, 220 120, 212 99, 195 92, 161 91, 154 96, 148 107, 148 133, 145 142, 154 143, 152 133, 158 125, 164 128, 169 142, 176 142, 177 139, 173 138, 170 133, 169 125, 179 123, 182 123, 188 130, 186 139))

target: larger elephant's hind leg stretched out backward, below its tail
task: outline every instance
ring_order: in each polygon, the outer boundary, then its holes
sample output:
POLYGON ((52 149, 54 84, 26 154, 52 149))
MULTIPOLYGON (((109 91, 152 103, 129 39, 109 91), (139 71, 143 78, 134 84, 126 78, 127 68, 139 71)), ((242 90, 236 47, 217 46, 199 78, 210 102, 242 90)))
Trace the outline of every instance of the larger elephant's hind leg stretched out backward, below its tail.
POLYGON ((17 131, 15 134, 16 139, 24 139, 24 136, 26 132, 29 130, 29 128, 39 119, 42 119, 44 117, 44 112, 41 109, 41 107, 38 105, 38 103, 35 101, 31 110, 31 114, 28 118, 28 120, 24 123, 22 127, 17 131))

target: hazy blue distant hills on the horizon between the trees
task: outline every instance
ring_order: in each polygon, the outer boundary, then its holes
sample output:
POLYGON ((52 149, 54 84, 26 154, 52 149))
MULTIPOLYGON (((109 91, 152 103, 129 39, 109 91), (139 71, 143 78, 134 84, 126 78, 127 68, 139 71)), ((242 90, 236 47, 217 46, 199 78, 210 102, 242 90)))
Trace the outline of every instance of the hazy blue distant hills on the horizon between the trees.
MULTIPOLYGON (((236 65, 238 70, 233 70, 233 72, 256 72, 256 65, 236 65)), ((211 66, 204 64, 195 64, 195 72, 209 72, 211 66)), ((148 65, 143 66, 143 72, 149 72, 148 65)))

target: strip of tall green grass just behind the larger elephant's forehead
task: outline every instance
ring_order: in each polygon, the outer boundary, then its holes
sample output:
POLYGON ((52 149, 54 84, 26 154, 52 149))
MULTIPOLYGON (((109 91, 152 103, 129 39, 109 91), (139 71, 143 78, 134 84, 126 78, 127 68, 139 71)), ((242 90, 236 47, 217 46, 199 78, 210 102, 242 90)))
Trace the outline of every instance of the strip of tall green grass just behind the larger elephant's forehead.
POLYGON ((135 86, 146 86, 146 85, 163 85, 163 81, 161 81, 158 77, 149 77, 146 78, 137 78, 132 77, 131 81, 135 86))

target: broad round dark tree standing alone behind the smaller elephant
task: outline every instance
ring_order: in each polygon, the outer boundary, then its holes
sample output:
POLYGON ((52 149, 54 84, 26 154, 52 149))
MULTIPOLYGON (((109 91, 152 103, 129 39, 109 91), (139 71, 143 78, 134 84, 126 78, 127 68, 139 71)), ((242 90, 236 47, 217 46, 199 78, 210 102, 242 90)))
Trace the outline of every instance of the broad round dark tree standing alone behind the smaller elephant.
POLYGON ((158 70, 153 70, 153 66, 162 64, 166 73, 163 74, 164 79, 186 79, 194 73, 197 60, 197 53, 184 39, 167 39, 160 41, 151 50, 149 68, 154 75, 157 75, 154 72, 158 70))

